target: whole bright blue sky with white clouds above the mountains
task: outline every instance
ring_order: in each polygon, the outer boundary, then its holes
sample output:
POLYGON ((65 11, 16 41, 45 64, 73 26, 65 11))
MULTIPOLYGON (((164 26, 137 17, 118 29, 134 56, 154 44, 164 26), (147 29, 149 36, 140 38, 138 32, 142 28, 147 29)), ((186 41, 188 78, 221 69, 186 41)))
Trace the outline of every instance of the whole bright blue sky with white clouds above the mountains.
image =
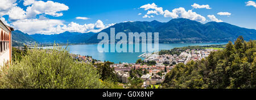
POLYGON ((201 23, 226 22, 256 29, 255 0, 1 1, 6 1, 0 3, 1 20, 28 34, 59 34, 64 31, 98 32, 125 21, 168 22, 173 18, 188 18, 201 23), (6 6, 6 3, 10 5, 6 6), (6 7, 1 8, 1 5, 6 7), (154 13, 147 14, 148 11, 154 13), (143 18, 143 16, 147 17, 143 18), (77 17, 84 19, 76 19, 77 17))

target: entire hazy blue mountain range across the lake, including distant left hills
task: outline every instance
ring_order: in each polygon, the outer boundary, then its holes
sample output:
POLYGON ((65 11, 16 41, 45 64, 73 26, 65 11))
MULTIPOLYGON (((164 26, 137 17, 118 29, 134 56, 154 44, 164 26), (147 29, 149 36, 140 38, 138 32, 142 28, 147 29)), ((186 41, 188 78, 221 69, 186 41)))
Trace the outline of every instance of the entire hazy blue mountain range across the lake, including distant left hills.
MULTIPOLYGON (((203 24, 184 18, 172 19, 166 23, 156 20, 117 23, 101 32, 108 33, 110 37, 110 28, 115 28, 115 34, 118 32, 125 32, 126 34, 128 32, 159 32, 159 43, 217 43, 234 41, 240 35, 245 40, 256 39, 256 30, 254 29, 241 28, 224 22, 203 24)), ((67 43, 67 41, 69 43, 98 43, 101 41, 97 39, 98 33, 64 32, 55 35, 34 34, 26 36, 40 43, 53 43, 54 41, 57 43, 67 43)))

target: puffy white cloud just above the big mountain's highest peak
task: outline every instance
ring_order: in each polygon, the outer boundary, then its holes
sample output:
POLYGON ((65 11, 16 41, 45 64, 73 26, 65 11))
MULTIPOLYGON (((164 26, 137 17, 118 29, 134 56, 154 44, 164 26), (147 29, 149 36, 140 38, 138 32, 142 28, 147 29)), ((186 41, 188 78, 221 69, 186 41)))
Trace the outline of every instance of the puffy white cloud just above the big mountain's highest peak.
POLYGON ((179 9, 174 9, 172 10, 172 12, 165 10, 164 17, 187 18, 199 22, 205 22, 206 20, 204 16, 196 14, 196 12, 193 12, 192 10, 186 11, 183 7, 179 7, 179 9))

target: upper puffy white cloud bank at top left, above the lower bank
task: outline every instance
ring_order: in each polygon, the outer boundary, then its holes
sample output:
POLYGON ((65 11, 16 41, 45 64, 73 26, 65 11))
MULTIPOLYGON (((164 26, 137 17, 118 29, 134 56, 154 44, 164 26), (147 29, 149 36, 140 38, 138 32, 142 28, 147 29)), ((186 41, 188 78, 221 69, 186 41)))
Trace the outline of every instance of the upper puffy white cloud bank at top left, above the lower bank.
POLYGON ((36 18, 36 15, 46 14, 52 16, 62 16, 63 13, 60 11, 68 10, 68 6, 63 3, 53 1, 35 1, 35 0, 24 0, 23 5, 28 6, 26 11, 21 9, 15 3, 16 0, 1 0, 0 3, 0 16, 9 15, 10 20, 19 19, 32 19, 36 18))

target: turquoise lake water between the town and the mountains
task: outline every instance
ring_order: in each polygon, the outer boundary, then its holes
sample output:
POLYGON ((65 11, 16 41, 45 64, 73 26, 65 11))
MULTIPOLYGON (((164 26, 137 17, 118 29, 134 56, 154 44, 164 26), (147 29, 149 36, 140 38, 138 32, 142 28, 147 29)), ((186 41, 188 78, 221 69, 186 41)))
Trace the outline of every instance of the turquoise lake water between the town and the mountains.
MULTIPOLYGON (((182 43, 182 44, 159 44, 159 51, 162 49, 172 49, 175 47, 187 47, 189 45, 212 45, 212 44, 226 44, 226 43, 182 43)), ((128 46, 128 45, 127 45, 128 46)), ((93 59, 101 61, 112 61, 114 63, 128 62, 135 63, 137 59, 143 59, 138 57, 143 52, 98 52, 97 44, 86 44, 86 45, 69 45, 70 53, 77 55, 89 55, 93 59)))

